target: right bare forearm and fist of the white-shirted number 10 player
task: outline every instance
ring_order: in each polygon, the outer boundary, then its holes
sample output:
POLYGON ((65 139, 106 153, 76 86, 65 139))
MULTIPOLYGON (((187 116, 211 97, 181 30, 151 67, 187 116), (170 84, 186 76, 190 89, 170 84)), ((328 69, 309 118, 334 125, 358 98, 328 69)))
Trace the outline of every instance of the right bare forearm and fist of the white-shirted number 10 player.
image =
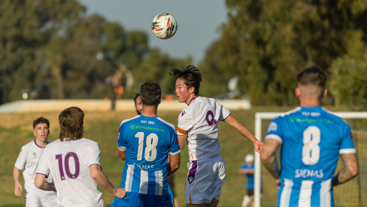
POLYGON ((102 186, 102 188, 108 190, 119 199, 123 199, 126 196, 126 190, 113 186, 108 180, 107 176, 102 172, 101 166, 98 164, 92 164, 89 166, 89 171, 91 177, 97 182, 98 185, 102 186))

